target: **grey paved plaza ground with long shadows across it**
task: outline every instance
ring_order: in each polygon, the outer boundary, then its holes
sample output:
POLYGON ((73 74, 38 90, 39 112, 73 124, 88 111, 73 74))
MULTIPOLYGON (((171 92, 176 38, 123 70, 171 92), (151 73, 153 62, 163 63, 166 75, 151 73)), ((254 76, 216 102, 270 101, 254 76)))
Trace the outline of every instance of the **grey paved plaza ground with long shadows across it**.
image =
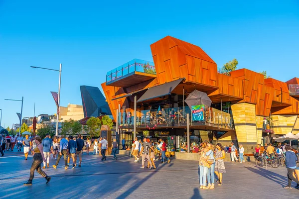
MULTIPOLYGON (((225 163, 223 185, 202 190, 197 161, 156 161, 156 170, 141 169, 141 162, 133 161, 128 156, 119 156, 117 161, 108 156, 102 162, 101 156, 84 153, 81 168, 64 170, 62 158, 56 170, 44 169, 52 177, 48 185, 35 172, 33 185, 23 186, 32 156, 25 161, 21 152, 6 152, 0 158, 0 199, 299 199, 299 190, 283 188, 287 185, 283 167, 225 163)), ((50 166, 54 163, 50 160, 50 166)))

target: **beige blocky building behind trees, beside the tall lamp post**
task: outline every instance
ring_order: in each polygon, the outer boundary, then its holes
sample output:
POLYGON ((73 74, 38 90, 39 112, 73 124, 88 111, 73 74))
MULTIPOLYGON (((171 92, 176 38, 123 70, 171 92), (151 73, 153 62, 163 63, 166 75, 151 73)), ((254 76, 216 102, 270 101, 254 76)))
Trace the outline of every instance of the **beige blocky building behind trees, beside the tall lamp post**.
POLYGON ((78 121, 84 118, 83 106, 78 104, 68 104, 67 107, 59 107, 59 121, 73 119, 78 121))

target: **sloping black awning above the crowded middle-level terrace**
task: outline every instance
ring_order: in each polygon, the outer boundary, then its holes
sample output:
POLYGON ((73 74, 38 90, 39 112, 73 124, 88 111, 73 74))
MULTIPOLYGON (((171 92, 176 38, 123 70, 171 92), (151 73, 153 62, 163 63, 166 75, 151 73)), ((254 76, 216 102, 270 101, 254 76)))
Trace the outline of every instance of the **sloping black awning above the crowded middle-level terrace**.
POLYGON ((165 84, 161 84, 161 85, 158 85, 155 87, 150 87, 148 89, 148 91, 137 102, 151 100, 154 98, 159 98, 162 96, 170 95, 170 93, 173 91, 173 89, 175 89, 175 87, 177 87, 177 85, 179 83, 181 83, 181 81, 183 79, 184 78, 181 78, 181 79, 174 80, 172 82, 167 82, 165 84))

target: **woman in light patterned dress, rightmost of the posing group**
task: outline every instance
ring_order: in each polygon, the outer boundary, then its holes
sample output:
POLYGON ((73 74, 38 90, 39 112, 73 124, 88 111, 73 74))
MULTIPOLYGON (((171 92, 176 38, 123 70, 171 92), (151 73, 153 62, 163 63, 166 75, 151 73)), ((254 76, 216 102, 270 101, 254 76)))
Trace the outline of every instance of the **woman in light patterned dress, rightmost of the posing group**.
POLYGON ((225 151, 221 143, 216 144, 215 151, 215 174, 218 177, 218 185, 222 185, 223 174, 226 172, 224 166, 225 151))

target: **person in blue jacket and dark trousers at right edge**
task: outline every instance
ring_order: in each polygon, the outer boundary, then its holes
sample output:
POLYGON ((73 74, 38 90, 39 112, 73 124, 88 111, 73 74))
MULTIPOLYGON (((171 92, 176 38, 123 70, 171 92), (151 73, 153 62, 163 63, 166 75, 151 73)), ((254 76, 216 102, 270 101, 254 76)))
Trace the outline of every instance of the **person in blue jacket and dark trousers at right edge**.
POLYGON ((287 144, 285 146, 286 150, 286 166, 288 168, 288 185, 284 187, 285 189, 292 189, 292 181, 297 183, 297 187, 299 187, 299 181, 294 177, 296 166, 296 161, 298 161, 295 152, 292 150, 292 147, 287 144))

